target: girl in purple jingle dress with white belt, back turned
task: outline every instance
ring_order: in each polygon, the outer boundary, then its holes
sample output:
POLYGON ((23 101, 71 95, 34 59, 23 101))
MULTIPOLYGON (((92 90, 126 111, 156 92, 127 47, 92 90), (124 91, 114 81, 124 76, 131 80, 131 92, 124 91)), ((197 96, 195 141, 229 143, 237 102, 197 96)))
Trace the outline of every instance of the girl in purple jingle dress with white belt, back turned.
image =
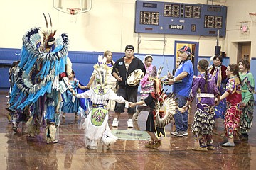
POLYGON ((192 123, 192 132, 195 135, 195 144, 193 150, 207 151, 213 149, 213 125, 215 122, 214 106, 215 98, 220 100, 220 94, 215 84, 215 78, 207 72, 208 61, 202 59, 198 62, 198 71, 200 75, 193 80, 191 94, 188 97, 185 111, 189 104, 196 97, 196 113, 192 123))

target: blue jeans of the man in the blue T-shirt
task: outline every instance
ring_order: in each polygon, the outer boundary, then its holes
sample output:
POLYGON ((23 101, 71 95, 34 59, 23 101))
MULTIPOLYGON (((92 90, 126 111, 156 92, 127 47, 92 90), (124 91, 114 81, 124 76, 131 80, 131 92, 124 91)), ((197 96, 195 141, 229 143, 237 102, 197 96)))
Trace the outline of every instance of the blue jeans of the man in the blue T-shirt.
MULTIPOLYGON (((181 96, 176 94, 176 98, 178 98, 178 107, 182 108, 185 106, 188 97, 181 96)), ((188 111, 181 113, 180 111, 176 110, 177 113, 174 115, 176 131, 182 132, 188 130, 188 111)))

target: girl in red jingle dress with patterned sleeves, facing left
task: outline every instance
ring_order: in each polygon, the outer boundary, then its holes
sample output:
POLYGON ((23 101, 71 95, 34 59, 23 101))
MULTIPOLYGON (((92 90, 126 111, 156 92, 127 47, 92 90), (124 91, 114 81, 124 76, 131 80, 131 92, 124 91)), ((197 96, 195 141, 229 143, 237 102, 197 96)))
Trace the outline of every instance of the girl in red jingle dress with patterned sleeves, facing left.
POLYGON ((240 115, 242 113, 242 91, 241 80, 239 77, 239 68, 237 64, 229 64, 226 69, 228 84, 225 93, 220 96, 220 100, 227 98, 227 111, 224 119, 224 134, 228 137, 228 142, 221 146, 234 147, 234 138, 238 137, 240 115))

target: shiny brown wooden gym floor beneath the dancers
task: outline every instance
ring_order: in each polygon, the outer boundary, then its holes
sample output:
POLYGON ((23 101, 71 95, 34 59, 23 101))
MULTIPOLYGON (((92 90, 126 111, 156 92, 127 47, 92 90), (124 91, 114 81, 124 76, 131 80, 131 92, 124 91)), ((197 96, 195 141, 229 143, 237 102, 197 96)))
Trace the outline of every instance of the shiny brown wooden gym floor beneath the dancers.
MULTIPOLYGON (((11 130, 6 119, 6 95, 8 89, 0 89, 0 169, 256 169, 256 124, 252 125, 249 140, 235 147, 220 147, 223 132, 222 120, 217 120, 213 136, 214 150, 193 151, 191 129, 188 137, 170 135, 173 123, 166 126, 166 137, 159 149, 144 147, 148 135, 144 132, 147 112, 139 115, 134 128, 127 128, 127 113, 122 113, 119 127, 113 132, 121 138, 110 149, 87 149, 83 143, 81 118, 67 114, 61 120, 59 141, 46 144, 43 128, 35 140, 11 130)), ((189 115, 189 126, 193 121, 189 115)), ((255 108, 256 110, 256 108, 255 108)), ((112 129, 112 113, 110 128, 112 129)))

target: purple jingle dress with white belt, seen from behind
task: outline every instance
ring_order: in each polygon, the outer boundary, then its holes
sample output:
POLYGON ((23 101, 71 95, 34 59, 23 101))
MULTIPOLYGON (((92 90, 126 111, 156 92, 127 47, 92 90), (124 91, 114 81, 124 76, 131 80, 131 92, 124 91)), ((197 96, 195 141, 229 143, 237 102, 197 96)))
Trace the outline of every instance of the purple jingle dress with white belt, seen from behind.
POLYGON ((211 135, 213 125, 215 123, 214 100, 220 95, 215 84, 215 78, 211 74, 207 74, 207 89, 205 89, 206 79, 205 73, 200 74, 193 80, 189 101, 197 98, 196 113, 192 123, 192 132, 194 135, 211 135))

